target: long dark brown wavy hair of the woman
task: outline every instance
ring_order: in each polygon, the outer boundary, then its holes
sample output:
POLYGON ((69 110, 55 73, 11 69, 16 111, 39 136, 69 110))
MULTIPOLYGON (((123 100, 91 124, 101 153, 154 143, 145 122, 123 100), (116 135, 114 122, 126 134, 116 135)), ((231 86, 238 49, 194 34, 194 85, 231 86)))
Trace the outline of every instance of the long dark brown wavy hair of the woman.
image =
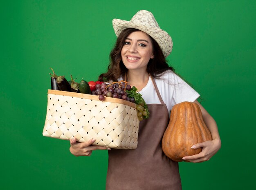
MULTIPOLYGON (((139 30, 134 28, 127 28, 121 32, 117 38, 115 47, 110 52, 110 64, 108 65, 108 71, 99 76, 100 81, 103 81, 103 77, 107 78, 108 80, 117 81, 120 76, 128 72, 128 69, 125 67, 121 59, 121 50, 124 46, 124 42, 127 36, 129 36, 129 34, 134 31, 139 30)), ((164 54, 158 43, 151 36, 149 37, 153 44, 154 58, 149 60, 147 65, 147 72, 154 78, 159 78, 167 70, 174 72, 174 68, 167 64, 167 61, 164 58, 164 54)))

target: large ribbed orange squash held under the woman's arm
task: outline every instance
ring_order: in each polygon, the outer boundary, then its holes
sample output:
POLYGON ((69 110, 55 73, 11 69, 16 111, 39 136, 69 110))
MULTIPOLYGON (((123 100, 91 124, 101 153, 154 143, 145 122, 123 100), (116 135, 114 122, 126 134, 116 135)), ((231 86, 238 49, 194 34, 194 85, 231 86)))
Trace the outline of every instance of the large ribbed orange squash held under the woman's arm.
POLYGON ((211 133, 204 123, 198 104, 182 102, 173 106, 162 139, 162 149, 166 156, 173 161, 183 161, 184 156, 202 151, 202 148, 192 149, 192 145, 209 140, 212 140, 211 133))

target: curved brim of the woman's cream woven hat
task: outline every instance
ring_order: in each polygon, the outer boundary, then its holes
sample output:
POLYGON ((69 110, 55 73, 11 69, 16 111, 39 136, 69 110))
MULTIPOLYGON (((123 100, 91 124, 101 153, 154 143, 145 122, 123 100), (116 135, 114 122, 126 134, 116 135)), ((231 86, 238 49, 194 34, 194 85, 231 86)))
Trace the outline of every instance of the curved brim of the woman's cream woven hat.
POLYGON ((126 28, 139 29, 141 31, 144 31, 146 34, 148 34, 149 36, 151 36, 156 40, 156 42, 162 49, 164 57, 167 57, 172 51, 173 40, 171 36, 169 36, 169 34, 166 31, 160 29, 159 27, 150 27, 150 26, 141 25, 141 24, 139 25, 134 22, 130 22, 127 20, 120 20, 120 19, 113 19, 112 24, 117 37, 126 28))

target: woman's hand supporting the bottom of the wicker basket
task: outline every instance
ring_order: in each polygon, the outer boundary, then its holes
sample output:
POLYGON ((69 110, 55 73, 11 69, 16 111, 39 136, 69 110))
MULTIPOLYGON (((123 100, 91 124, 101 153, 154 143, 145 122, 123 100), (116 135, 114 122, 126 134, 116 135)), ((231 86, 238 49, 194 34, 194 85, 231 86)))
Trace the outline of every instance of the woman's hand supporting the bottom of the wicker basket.
POLYGON ((70 152, 74 156, 90 156, 92 150, 111 150, 103 146, 92 145, 96 139, 90 139, 85 143, 76 142, 76 138, 70 140, 70 152))

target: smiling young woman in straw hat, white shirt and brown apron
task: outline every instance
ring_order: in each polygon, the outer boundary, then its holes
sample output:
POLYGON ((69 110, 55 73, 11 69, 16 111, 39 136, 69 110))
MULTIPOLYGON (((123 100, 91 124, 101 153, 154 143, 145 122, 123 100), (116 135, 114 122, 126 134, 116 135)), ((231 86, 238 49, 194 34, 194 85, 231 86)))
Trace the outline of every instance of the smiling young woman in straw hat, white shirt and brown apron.
MULTIPOLYGON (((141 10, 130 21, 114 19, 113 27, 117 42, 110 53, 108 71, 99 79, 126 80, 136 86, 148 105, 150 117, 140 122, 137 149, 109 150, 106 189, 180 190, 178 163, 168 159, 161 147, 173 105, 183 101, 197 103, 213 138, 193 145, 191 148, 202 147, 202 152, 185 156, 184 161, 207 161, 220 149, 216 122, 198 103, 200 95, 166 63, 173 43, 159 28, 152 13, 141 10)), ((94 140, 76 143, 76 139, 72 139, 70 152, 75 156, 90 156, 92 150, 108 149, 92 143, 94 140)))

